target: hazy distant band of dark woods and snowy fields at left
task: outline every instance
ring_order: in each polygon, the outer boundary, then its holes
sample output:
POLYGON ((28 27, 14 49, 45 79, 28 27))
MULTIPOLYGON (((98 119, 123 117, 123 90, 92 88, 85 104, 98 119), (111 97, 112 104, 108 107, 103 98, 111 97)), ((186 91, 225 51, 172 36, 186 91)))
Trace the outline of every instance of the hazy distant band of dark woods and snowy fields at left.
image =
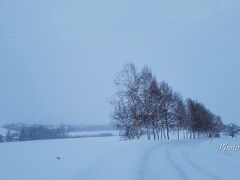
POLYGON ((62 138, 85 138, 85 137, 106 137, 113 136, 111 133, 100 133, 99 135, 77 135, 69 136, 69 132, 82 132, 86 130, 112 129, 109 125, 26 125, 7 124, 3 128, 7 129, 5 136, 0 134, 0 142, 30 141, 41 139, 62 139, 62 138), (102 128, 101 128, 102 127, 102 128))

